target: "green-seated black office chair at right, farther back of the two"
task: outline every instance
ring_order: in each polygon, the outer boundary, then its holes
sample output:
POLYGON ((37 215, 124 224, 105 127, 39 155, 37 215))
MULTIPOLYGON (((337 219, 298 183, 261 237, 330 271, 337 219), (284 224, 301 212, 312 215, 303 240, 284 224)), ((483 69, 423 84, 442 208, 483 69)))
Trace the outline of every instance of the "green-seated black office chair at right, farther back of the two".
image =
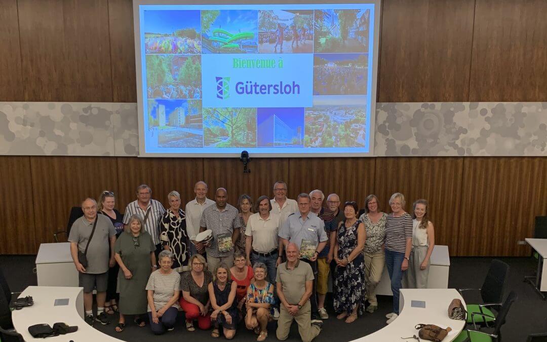
POLYGON ((494 259, 490 263, 490 268, 481 288, 458 289, 462 296, 463 291, 478 290, 482 298, 483 304, 467 304, 467 323, 473 323, 471 320, 473 312, 486 315, 475 317, 475 323, 485 324, 488 327, 488 323, 494 321, 493 318, 490 318, 495 317, 491 309, 498 310, 501 307, 508 275, 509 265, 501 260, 494 259))

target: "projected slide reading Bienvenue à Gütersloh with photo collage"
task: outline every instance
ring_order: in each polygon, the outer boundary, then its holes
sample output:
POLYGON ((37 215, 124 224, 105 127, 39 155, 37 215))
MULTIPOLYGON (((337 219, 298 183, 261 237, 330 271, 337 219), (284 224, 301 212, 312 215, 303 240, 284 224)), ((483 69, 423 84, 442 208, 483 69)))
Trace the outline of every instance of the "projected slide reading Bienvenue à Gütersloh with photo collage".
POLYGON ((376 4, 140 4, 141 155, 371 152, 376 4))

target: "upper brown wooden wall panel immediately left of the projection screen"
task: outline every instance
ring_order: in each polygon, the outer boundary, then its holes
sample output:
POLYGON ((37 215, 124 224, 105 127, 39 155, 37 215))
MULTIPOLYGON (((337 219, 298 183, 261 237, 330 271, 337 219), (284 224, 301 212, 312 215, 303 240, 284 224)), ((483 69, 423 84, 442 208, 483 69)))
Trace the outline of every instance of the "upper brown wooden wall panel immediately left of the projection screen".
POLYGON ((135 39, 131 0, 108 1, 114 102, 137 102, 135 39))

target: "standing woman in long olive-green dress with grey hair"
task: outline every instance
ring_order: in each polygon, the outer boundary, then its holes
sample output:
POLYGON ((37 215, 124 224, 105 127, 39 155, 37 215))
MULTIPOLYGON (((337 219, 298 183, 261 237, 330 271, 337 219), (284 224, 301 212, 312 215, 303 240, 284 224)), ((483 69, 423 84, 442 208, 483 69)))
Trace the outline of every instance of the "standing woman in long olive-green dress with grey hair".
POLYGON ((141 217, 131 216, 129 224, 116 241, 115 258, 120 265, 118 273, 118 289, 120 300, 120 320, 115 328, 123 332, 125 315, 135 315, 133 320, 139 327, 146 324, 141 315, 146 314, 148 300, 144 289, 150 273, 156 269, 156 246, 152 236, 144 230, 141 217))

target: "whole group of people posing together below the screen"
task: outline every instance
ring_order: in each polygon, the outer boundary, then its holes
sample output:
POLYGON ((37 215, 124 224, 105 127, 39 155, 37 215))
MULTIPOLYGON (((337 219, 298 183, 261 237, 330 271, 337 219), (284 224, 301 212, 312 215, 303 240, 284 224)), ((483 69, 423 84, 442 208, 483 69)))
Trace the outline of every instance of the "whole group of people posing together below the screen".
POLYGON ((207 192, 207 184, 197 182, 195 199, 182 210, 181 196, 172 191, 165 209, 143 184, 124 216, 112 192, 83 201, 84 216, 68 240, 88 323, 108 324, 107 315, 119 311, 115 330, 121 332, 126 316, 144 327, 147 313, 152 331, 162 334, 184 311, 187 331, 197 322, 199 329, 213 327, 213 337, 231 339, 243 321, 263 341, 269 321, 277 320, 277 338, 285 340, 296 320, 309 342, 329 317, 329 277, 336 318, 347 323, 377 310, 375 288, 385 265, 393 292, 388 324, 399 314, 403 285, 427 286, 434 228, 426 200, 414 202, 410 215, 404 195, 395 193, 388 214, 369 195, 359 215, 356 202, 341 205, 337 194, 324 205, 318 189, 288 199, 282 181, 274 184, 273 199, 264 195, 253 203, 241 195, 237 208, 226 202, 226 189, 218 188, 214 201, 207 192))

